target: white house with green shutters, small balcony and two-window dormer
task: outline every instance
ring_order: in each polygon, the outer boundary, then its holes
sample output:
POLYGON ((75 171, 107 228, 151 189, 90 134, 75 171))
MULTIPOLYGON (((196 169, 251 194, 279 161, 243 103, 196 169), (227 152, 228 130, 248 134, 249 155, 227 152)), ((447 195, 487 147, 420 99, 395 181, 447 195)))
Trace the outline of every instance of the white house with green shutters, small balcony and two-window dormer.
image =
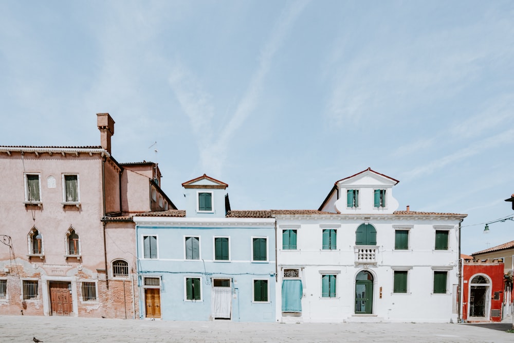
POLYGON ((368 168, 318 211, 271 211, 278 321, 457 321, 466 214, 398 211, 397 183, 368 168))

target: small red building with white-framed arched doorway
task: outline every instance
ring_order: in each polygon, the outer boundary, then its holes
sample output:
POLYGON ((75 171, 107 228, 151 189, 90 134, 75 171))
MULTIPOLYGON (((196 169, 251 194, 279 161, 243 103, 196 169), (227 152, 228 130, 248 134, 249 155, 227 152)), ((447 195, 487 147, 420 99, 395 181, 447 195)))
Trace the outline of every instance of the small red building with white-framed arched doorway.
POLYGON ((503 260, 464 260, 462 319, 501 321, 505 290, 503 260))

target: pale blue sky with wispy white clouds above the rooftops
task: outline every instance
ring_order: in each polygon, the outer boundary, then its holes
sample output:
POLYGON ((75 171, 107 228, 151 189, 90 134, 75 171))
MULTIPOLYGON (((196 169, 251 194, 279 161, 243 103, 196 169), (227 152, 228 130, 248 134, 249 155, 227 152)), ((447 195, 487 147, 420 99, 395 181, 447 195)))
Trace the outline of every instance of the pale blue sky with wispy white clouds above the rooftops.
POLYGON ((468 214, 462 252, 514 240, 511 1, 0 2, 0 145, 98 146, 232 209, 318 209, 366 168, 400 210, 468 214))

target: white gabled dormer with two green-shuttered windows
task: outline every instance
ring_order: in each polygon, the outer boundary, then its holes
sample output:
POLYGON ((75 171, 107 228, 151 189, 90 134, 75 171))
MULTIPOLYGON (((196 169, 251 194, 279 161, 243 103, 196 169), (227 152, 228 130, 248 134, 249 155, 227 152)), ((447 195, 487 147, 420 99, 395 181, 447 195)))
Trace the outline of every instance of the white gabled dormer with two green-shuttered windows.
POLYGON ((336 181, 320 211, 342 214, 392 214, 398 209, 393 186, 399 181, 368 168, 336 181))

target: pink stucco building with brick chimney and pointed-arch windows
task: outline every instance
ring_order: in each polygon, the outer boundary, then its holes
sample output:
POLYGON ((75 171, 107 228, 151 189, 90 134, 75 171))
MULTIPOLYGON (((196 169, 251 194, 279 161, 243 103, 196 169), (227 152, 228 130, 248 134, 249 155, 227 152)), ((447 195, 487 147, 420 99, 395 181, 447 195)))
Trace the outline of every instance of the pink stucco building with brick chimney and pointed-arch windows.
POLYGON ((0 146, 0 313, 138 317, 132 215, 176 209, 157 164, 100 146, 0 146))

